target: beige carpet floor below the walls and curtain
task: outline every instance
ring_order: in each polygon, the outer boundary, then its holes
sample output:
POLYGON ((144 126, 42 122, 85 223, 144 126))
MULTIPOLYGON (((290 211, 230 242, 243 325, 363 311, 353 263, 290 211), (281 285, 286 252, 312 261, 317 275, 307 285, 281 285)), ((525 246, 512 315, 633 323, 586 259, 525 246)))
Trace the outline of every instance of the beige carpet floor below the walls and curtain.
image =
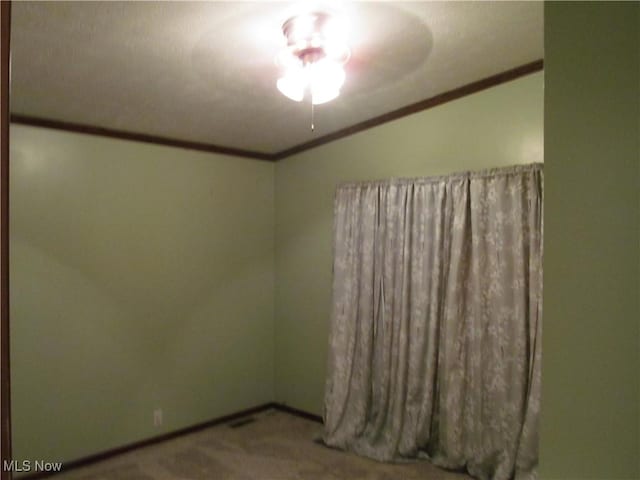
POLYGON ((314 442, 322 426, 277 410, 56 475, 55 480, 468 480, 429 463, 384 464, 314 442))

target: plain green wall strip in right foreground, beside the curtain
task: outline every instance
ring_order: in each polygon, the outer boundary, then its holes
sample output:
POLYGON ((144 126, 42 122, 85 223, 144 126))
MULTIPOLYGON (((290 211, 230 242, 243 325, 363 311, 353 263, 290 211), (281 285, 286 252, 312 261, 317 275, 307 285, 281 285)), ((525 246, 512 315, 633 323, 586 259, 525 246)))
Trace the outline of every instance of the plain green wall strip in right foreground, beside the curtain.
POLYGON ((545 5, 542 478, 639 478, 640 4, 545 5))

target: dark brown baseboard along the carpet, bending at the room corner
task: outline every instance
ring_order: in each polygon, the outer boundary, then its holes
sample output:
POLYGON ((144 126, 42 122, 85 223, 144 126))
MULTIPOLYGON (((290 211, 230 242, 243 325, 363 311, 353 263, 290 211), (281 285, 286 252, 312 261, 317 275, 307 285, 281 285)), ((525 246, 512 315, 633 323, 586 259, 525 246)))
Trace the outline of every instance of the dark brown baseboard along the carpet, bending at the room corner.
POLYGON ((148 447, 157 443, 166 442, 167 440, 172 440, 177 437, 181 437, 183 435, 188 435, 190 433, 197 432, 199 430, 203 430, 205 428, 213 427, 215 425, 219 425, 221 423, 231 422, 233 420, 237 420, 242 417, 246 417, 249 415, 253 415, 254 413, 263 412, 265 410, 275 409, 280 410, 282 412, 289 413, 291 415, 296 415, 298 417, 306 418, 307 420, 312 420, 314 422, 322 423, 322 417, 319 415, 314 415, 312 413, 305 412, 304 410, 299 410, 297 408, 290 407, 288 405, 284 405, 276 402, 264 403, 262 405, 258 405, 256 407, 247 408, 245 410, 240 410, 238 412, 231 413, 229 415, 224 415, 222 417, 217 417, 212 420, 207 420, 206 422, 198 423, 196 425, 191 425, 186 428, 181 428, 179 430, 175 430, 173 432, 165 433, 162 435, 158 435, 155 437, 147 438, 145 440, 140 440, 138 442, 129 443, 127 445, 123 445, 121 447, 112 448, 109 450, 105 450, 103 452, 95 453, 93 455, 89 455, 86 457, 82 457, 76 460, 71 460, 69 462, 64 462, 62 469, 59 472, 37 472, 37 473, 28 473, 24 476, 17 477, 16 480, 37 480, 41 478, 50 478, 55 475, 58 475, 63 472, 68 472, 69 470, 74 470, 80 467, 86 467, 91 465, 92 463, 101 462, 103 460, 107 460, 109 458, 122 455, 123 453, 128 453, 133 450, 137 450, 140 448, 148 447))

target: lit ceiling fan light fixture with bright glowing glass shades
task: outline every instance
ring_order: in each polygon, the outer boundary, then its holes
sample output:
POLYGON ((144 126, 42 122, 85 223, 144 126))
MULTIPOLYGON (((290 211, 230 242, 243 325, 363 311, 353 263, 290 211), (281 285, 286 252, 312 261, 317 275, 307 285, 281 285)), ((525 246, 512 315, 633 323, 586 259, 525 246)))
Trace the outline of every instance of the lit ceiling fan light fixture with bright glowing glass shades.
POLYGON ((314 105, 336 98, 351 54, 344 22, 327 12, 305 13, 284 22, 282 33, 287 46, 276 58, 284 70, 278 90, 296 102, 309 95, 314 105))

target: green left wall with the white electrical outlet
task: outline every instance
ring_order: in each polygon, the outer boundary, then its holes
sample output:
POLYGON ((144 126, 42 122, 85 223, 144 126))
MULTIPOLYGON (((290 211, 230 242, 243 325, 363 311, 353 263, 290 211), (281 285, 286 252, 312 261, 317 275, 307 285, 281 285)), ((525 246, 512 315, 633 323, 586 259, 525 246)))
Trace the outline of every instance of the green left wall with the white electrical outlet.
POLYGON ((10 140, 14 458, 273 400, 273 164, 16 125, 10 140))

